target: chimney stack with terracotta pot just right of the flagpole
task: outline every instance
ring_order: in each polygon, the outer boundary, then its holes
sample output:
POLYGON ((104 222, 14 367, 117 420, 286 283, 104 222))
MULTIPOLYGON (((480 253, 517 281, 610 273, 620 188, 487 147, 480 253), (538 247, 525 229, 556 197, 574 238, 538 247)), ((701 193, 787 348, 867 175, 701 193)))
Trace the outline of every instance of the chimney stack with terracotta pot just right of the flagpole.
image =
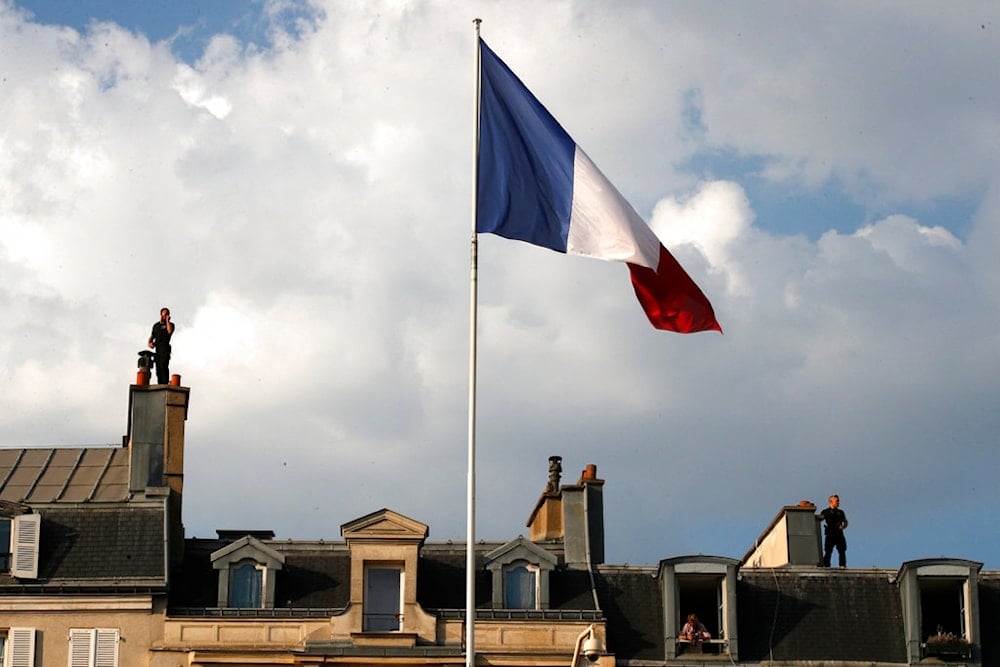
POLYGON ((576 484, 559 485, 551 474, 557 458, 549 459, 549 485, 528 518, 529 536, 532 541, 562 539, 566 565, 588 569, 604 562, 604 480, 591 463, 576 484))

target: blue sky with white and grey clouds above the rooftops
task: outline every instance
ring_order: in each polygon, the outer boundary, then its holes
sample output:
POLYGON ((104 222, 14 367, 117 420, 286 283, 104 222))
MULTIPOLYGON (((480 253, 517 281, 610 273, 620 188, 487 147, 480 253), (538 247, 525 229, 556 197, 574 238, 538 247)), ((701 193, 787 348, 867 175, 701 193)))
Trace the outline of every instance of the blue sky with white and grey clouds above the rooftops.
POLYGON ((464 539, 479 17, 725 334, 483 236, 477 537, 557 454, 608 562, 836 492, 852 565, 1000 568, 1000 7, 203 6, 0 0, 0 443, 120 442, 167 305, 189 535, 464 539))

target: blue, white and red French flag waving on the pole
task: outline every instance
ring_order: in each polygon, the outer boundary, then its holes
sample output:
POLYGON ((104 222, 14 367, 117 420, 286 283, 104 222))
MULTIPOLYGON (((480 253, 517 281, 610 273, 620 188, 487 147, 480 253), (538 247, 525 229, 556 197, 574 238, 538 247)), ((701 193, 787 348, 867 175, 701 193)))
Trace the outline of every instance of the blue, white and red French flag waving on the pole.
POLYGON ((476 232, 625 262, 654 327, 721 332, 712 304, 615 186, 481 39, 479 55, 476 232))

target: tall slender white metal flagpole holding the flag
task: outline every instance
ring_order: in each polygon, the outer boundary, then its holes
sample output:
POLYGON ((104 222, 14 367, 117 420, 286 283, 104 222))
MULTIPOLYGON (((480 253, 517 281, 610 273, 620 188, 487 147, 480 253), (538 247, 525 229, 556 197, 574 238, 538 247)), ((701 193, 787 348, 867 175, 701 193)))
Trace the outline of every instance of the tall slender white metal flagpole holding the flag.
POLYGON ((465 664, 476 664, 476 327, 479 308, 479 240, 476 235, 476 212, 479 205, 479 98, 480 49, 479 24, 476 26, 476 126, 472 166, 472 234, 469 285, 469 461, 466 497, 465 542, 465 664))

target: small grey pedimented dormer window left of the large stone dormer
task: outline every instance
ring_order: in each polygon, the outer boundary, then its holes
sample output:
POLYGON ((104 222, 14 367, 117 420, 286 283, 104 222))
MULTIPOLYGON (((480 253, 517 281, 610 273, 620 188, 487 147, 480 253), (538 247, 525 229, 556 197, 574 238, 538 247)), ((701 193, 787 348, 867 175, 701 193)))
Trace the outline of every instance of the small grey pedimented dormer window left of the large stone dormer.
POLYGON ((273 609, 277 572, 284 554, 252 535, 245 535, 214 552, 212 567, 219 571, 219 607, 273 609))

